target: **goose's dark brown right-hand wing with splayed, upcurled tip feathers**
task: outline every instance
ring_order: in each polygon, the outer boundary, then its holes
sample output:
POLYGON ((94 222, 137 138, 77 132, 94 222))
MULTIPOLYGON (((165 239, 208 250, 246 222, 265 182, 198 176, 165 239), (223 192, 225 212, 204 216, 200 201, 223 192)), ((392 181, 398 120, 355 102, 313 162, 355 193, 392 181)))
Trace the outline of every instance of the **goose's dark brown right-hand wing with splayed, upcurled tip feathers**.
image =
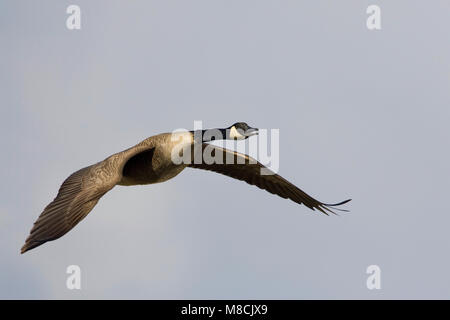
MULTIPOLYGON (((298 204, 304 204, 312 210, 317 209, 327 215, 327 212, 335 213, 330 207, 338 206, 351 200, 348 199, 335 204, 320 202, 245 154, 203 143, 203 151, 205 151, 206 148, 208 149, 204 152, 204 154, 206 153, 206 155, 211 155, 211 158, 216 159, 216 161, 205 160, 205 157, 202 157, 201 163, 195 163, 194 159, 193 163, 189 165, 190 167, 210 170, 234 179, 243 180, 284 199, 291 199, 298 204), (262 175, 261 169, 267 170, 266 173, 271 172, 272 174, 262 175)), ((336 210, 346 211, 342 209, 336 210)))

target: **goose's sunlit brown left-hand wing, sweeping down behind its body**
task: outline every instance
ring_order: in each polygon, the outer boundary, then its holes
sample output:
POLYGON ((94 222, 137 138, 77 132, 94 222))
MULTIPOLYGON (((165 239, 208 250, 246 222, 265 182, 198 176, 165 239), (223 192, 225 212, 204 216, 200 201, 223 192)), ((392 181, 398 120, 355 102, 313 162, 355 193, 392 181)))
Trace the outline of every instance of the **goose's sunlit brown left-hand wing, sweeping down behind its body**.
POLYGON ((56 198, 45 207, 21 249, 24 253, 58 239, 75 227, 115 185, 101 163, 71 174, 61 185, 56 198))

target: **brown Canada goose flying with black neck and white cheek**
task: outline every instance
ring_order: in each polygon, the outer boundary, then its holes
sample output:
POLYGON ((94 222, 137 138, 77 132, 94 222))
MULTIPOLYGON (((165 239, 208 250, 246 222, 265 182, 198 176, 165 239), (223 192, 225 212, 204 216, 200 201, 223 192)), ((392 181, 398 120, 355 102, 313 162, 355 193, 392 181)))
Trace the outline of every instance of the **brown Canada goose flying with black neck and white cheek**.
MULTIPOLYGON (((312 210, 317 209, 325 214, 328 214, 327 212, 334 213, 330 207, 351 200, 325 204, 310 197, 278 174, 272 172, 271 175, 262 175, 261 169, 269 169, 255 159, 242 153, 204 143, 213 140, 212 137, 205 138, 208 131, 211 130, 201 132, 200 140, 198 140, 198 132, 194 131, 181 133, 178 139, 174 138, 175 133, 155 135, 134 147, 76 171, 63 182, 56 198, 45 207, 38 217, 21 249, 21 253, 66 234, 115 185, 131 186, 164 182, 178 175, 186 167, 211 170, 235 179, 244 180, 270 193, 277 194, 285 199, 289 198, 296 203, 304 204, 312 210), (172 153, 174 148, 180 146, 188 146, 189 148, 200 146, 201 152, 209 148, 211 154, 221 161, 211 164, 207 164, 203 160, 200 162, 174 163, 172 153), (233 161, 229 161, 230 157, 233 161)), ((222 139, 247 139, 258 133, 258 129, 251 128, 244 122, 237 122, 228 128, 216 129, 216 131, 221 134, 222 139)), ((179 154, 183 154, 183 151, 179 154)), ((194 151, 193 155, 195 154, 194 151)))

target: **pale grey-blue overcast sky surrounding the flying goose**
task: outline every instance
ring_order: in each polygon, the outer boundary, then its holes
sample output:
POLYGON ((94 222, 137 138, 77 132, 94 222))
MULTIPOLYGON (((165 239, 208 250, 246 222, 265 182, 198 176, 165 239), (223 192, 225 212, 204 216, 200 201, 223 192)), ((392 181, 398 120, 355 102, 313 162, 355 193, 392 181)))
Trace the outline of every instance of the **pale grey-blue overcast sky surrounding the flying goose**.
POLYGON ((0 298, 450 298, 449 12, 448 0, 1 1, 0 298), (366 28, 370 4, 380 31, 366 28), (194 120, 280 129, 279 173, 324 202, 352 198, 351 212, 186 169, 114 188, 19 254, 69 174, 194 120), (366 288, 372 264, 381 290, 366 288))

